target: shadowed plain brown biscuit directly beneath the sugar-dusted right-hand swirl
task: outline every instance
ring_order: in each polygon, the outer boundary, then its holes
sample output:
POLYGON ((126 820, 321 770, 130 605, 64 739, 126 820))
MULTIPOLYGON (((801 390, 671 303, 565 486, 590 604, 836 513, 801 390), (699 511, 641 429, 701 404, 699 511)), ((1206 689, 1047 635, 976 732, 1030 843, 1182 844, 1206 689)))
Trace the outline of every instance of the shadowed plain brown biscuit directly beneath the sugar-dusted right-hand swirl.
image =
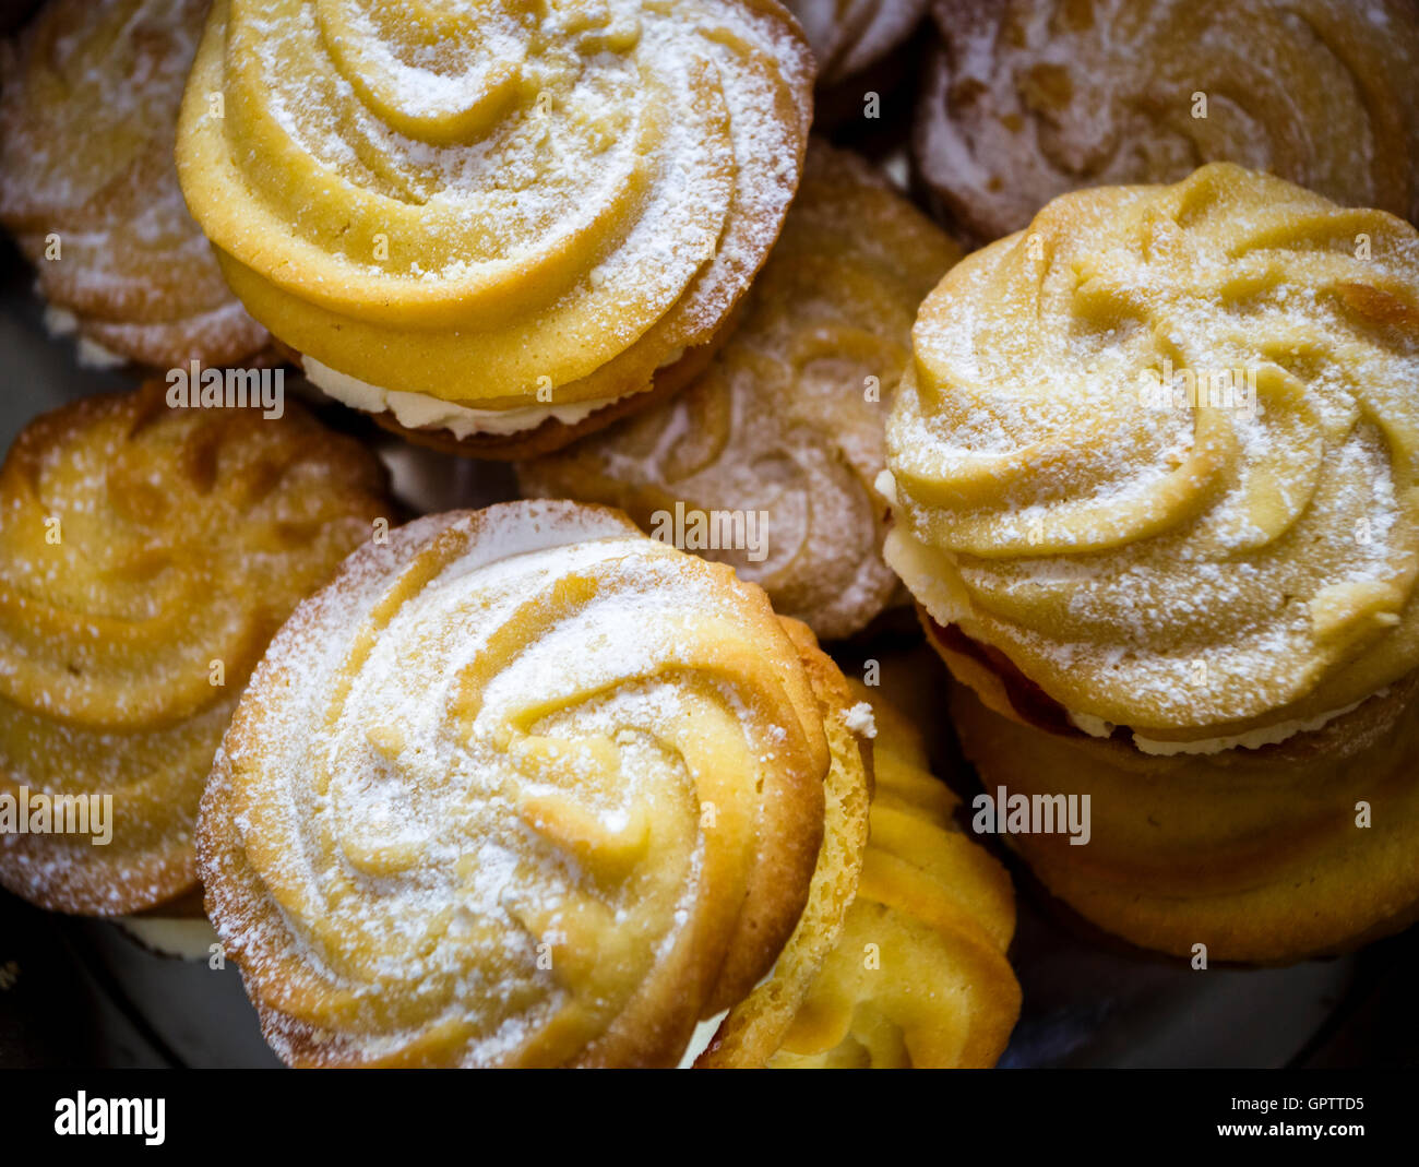
POLYGON ((1415 919, 1419 674, 1323 730, 1206 755, 1047 733, 965 687, 952 716, 988 791, 1090 796, 1087 845, 1009 842, 1053 894, 1134 944, 1280 964, 1415 919))

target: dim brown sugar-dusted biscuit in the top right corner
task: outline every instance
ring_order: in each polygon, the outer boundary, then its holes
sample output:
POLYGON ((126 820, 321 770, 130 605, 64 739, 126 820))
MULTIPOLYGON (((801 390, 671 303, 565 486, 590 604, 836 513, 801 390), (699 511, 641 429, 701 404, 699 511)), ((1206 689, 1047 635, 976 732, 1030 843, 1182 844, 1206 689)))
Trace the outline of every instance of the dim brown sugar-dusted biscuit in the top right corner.
POLYGON ((934 0, 914 149, 982 241, 1086 186, 1270 170, 1419 221, 1410 0, 934 0))

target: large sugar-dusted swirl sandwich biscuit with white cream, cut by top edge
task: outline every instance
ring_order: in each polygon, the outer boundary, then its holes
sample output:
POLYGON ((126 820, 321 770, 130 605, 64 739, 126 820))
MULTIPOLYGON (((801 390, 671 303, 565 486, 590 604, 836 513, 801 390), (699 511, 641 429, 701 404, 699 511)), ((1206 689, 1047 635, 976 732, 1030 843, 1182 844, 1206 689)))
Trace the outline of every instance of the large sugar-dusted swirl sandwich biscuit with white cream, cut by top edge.
POLYGON ((724 339, 797 186, 810 89, 773 0, 219 0, 177 169, 321 389, 524 456, 724 339))

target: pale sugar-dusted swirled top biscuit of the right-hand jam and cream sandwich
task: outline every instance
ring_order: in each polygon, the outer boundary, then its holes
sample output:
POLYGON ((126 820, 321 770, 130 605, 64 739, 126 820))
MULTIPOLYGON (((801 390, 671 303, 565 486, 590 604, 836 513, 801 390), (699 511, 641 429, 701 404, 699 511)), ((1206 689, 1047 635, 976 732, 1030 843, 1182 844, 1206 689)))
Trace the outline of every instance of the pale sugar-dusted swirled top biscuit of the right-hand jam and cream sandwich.
POLYGON ((1066 710, 1218 738, 1419 664, 1409 224, 1229 163, 1067 194, 914 345, 888 562, 1066 710))

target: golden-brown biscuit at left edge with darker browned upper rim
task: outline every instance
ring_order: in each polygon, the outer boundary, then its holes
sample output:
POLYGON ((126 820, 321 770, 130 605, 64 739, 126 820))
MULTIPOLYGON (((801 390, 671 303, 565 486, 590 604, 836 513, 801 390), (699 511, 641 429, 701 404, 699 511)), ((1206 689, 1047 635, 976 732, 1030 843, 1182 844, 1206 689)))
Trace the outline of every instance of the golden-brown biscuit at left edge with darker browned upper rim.
POLYGON ((118 916, 196 887, 203 782, 297 601, 387 518, 373 454, 166 386, 31 422, 0 467, 0 884, 118 916))

